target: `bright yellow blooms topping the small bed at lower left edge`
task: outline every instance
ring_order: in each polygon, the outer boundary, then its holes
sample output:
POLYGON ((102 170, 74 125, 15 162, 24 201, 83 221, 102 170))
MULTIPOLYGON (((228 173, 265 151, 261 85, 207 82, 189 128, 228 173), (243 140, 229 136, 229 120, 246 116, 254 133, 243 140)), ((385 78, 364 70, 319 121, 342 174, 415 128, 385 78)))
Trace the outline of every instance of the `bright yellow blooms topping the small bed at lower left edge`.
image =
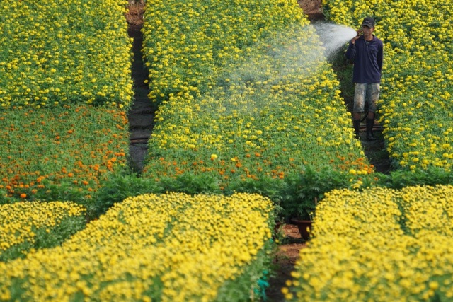
MULTIPOLYGON (((0 205, 0 255, 21 243, 33 243, 35 231, 49 232, 65 217, 84 216, 86 210, 71 202, 16 202, 0 205)), ((26 252, 26 251, 23 251, 26 252)), ((1 297, 0 297, 1 300, 1 297)))

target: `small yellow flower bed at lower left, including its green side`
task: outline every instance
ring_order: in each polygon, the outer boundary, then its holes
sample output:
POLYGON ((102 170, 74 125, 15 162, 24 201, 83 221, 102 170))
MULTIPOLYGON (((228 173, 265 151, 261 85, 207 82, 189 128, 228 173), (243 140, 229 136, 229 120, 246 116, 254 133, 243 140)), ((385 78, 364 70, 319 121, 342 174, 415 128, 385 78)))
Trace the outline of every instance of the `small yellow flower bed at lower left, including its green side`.
POLYGON ((83 207, 71 202, 1 204, 0 261, 61 244, 85 227, 85 214, 83 207))

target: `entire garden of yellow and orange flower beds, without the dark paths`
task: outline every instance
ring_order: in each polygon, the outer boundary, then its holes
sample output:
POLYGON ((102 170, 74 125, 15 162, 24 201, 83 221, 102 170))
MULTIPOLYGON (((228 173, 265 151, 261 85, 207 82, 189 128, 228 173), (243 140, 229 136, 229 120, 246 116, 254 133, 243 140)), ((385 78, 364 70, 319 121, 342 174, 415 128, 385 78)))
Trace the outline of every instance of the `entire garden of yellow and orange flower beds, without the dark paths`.
POLYGON ((127 1, 40 2, 0 5, 1 301, 259 300, 275 221, 314 215, 288 301, 452 297, 450 1, 323 1, 376 17, 390 175, 295 1, 147 1, 139 175, 127 1))

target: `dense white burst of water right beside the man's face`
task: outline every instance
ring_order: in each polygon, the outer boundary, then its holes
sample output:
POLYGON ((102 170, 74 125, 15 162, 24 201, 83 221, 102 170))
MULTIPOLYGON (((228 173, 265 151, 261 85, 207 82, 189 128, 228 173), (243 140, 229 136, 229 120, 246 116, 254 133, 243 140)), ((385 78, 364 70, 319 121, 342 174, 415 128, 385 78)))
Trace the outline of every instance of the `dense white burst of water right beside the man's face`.
POLYGON ((357 35, 354 28, 349 28, 345 25, 333 23, 313 23, 316 35, 319 35, 323 47, 325 47, 324 55, 328 58, 335 54, 349 40, 357 35))

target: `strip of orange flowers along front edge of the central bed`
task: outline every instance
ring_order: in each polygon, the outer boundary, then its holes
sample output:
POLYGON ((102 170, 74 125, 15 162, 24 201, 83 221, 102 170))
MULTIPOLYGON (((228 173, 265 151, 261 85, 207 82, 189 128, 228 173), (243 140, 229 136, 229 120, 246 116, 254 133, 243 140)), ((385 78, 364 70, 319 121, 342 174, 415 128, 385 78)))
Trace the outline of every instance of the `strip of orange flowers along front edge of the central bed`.
MULTIPOLYGON (((149 164, 144 168, 144 173, 154 177, 159 181, 161 177, 176 178, 183 173, 193 173, 195 175, 211 173, 219 180, 220 187, 228 187, 233 180, 259 180, 271 178, 283 180, 289 175, 304 173, 304 166, 318 165, 328 161, 345 175, 352 169, 361 180, 360 175, 374 173, 374 165, 369 164, 367 158, 357 157, 355 153, 345 153, 340 155, 337 151, 327 151, 324 154, 312 154, 313 158, 306 156, 303 165, 297 165, 294 161, 294 149, 262 149, 260 152, 246 150, 243 155, 236 155, 231 158, 220 156, 205 156, 206 161, 195 159, 192 162, 187 160, 187 156, 176 154, 174 157, 150 158, 149 164), (330 159, 328 159, 330 158, 330 159), (152 171, 152 173, 151 173, 152 171)), ((203 158, 199 155, 196 158, 203 158)))

